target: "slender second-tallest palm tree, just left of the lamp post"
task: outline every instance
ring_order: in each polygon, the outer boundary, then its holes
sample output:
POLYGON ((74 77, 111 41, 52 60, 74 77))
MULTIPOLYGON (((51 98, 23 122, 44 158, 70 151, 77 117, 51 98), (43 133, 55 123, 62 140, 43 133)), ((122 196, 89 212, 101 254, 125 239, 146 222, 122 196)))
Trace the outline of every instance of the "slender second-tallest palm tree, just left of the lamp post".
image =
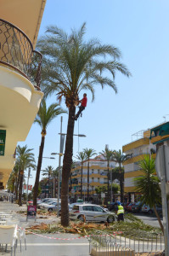
POLYGON ((39 177, 40 177, 41 166, 42 166, 42 154, 43 154, 43 148, 44 148, 44 143, 45 143, 45 136, 47 134, 47 127, 54 120, 54 118, 56 118, 61 113, 66 113, 66 111, 64 111, 62 108, 60 108, 59 104, 54 103, 54 104, 51 104, 47 108, 46 102, 43 99, 41 102, 39 111, 37 113, 37 118, 34 121, 35 123, 40 125, 42 128, 42 132, 41 132, 42 139, 41 139, 41 146, 39 148, 37 174, 36 174, 34 193, 33 193, 33 205, 34 206, 37 206, 37 191, 38 191, 38 187, 39 187, 39 177))

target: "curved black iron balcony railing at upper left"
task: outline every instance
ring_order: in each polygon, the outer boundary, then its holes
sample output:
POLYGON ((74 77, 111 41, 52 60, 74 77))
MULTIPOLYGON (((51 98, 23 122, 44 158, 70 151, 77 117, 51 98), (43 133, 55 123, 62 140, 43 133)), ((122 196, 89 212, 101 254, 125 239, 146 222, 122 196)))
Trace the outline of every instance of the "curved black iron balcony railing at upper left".
POLYGON ((0 19, 0 64, 21 73, 40 90, 41 62, 41 53, 33 50, 25 33, 17 26, 0 19))

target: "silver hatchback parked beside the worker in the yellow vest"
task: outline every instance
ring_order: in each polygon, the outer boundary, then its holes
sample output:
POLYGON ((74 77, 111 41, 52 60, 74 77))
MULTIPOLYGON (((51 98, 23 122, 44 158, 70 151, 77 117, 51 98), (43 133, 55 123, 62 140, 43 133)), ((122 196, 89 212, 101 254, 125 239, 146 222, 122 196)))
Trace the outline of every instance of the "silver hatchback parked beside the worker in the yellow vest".
POLYGON ((115 214, 112 212, 107 212, 103 207, 93 204, 76 204, 70 211, 70 219, 79 219, 84 221, 107 221, 111 223, 115 221, 115 214))

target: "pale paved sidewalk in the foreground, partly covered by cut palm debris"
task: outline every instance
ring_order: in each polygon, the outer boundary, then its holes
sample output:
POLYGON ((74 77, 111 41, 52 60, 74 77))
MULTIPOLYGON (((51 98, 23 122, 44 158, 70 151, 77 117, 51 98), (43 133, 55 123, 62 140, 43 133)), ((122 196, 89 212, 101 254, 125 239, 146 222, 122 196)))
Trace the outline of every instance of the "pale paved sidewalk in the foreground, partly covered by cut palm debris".
MULTIPOLYGON (((26 206, 19 207, 10 202, 0 202, 1 212, 19 212, 25 210, 26 206)), ((26 224, 26 216, 20 216, 20 224, 26 224)), ((52 222, 59 222, 60 218, 55 216, 49 218, 37 218, 36 222, 29 220, 26 226, 37 225, 41 223, 49 224, 52 222)), ((0 255, 10 255, 5 253, 0 247, 0 255)), ((20 241, 16 248, 16 256, 88 256, 89 242, 86 238, 78 238, 74 234, 42 234, 42 235, 26 235, 26 250, 24 240, 22 241, 20 253, 20 241), (57 238, 57 239, 56 239, 57 238), (65 240, 66 239, 66 240, 65 240)))

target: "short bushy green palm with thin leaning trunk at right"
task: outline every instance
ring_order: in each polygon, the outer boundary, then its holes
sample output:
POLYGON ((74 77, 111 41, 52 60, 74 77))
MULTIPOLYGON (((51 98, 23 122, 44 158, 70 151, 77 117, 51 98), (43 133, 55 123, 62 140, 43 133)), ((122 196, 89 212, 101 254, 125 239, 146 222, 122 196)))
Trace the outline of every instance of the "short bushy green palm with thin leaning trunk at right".
POLYGON ((145 155, 144 159, 138 163, 138 166, 142 169, 144 175, 134 177, 133 180, 136 185, 136 190, 142 195, 141 201, 143 201, 144 204, 149 205, 149 207, 154 208, 155 215, 164 234, 161 218, 155 208, 156 203, 161 203, 160 180, 155 176, 155 159, 150 158, 149 155, 145 155))

